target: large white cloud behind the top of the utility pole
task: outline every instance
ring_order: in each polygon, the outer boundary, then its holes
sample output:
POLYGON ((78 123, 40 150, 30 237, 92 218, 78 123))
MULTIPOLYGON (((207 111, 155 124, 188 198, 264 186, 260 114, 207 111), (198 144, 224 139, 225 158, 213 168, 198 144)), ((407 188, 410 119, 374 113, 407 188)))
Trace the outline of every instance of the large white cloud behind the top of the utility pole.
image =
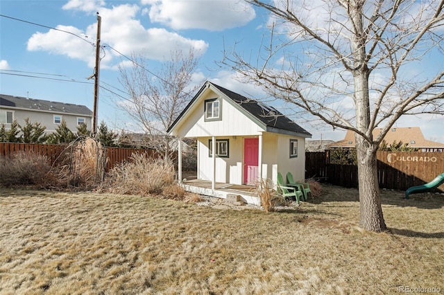
MULTIPOLYGON (((78 9, 85 12, 95 11, 103 1, 95 1, 89 6, 86 0, 71 0, 64 6, 65 9, 78 9)), ((136 19, 140 11, 139 6, 122 4, 112 8, 100 9, 101 15, 101 45, 115 48, 123 55, 130 56, 133 53, 142 55, 152 60, 168 59, 170 51, 178 48, 188 51, 193 48, 198 54, 203 55, 208 44, 199 39, 189 39, 178 33, 172 33, 164 28, 144 28, 139 19, 136 19)), ((85 32, 73 26, 57 26, 59 30, 66 30, 78 36, 95 36, 97 24, 89 25, 85 32)), ((93 44, 93 37, 88 39, 93 44)), ((105 47, 101 57, 103 69, 116 69, 116 57, 121 60, 121 55, 105 47)), ((53 54, 67 55, 76 60, 87 62, 89 67, 94 67, 95 50, 92 44, 82 39, 60 32, 49 30, 46 33, 35 33, 28 39, 28 51, 49 51, 53 54)))

